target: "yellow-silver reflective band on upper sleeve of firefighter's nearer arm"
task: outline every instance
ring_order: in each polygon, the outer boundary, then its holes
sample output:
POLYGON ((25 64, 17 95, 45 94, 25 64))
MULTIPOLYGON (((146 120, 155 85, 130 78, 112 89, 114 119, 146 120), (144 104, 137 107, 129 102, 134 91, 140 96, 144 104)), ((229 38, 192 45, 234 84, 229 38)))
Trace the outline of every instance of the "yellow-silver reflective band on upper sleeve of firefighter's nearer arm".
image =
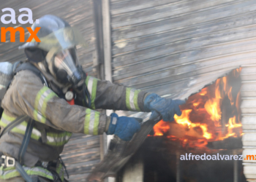
POLYGON ((47 107, 47 103, 51 98, 55 96, 57 97, 57 95, 48 87, 42 87, 42 89, 39 90, 34 103, 34 119, 36 119, 38 122, 45 123, 45 110, 47 107))

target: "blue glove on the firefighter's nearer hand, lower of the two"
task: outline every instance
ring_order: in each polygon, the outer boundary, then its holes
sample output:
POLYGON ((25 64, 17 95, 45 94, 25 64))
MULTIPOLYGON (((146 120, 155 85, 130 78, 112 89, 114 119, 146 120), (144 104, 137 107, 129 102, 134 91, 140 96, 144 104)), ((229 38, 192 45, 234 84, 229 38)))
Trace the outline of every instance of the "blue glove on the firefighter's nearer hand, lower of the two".
MULTIPOLYGON (((108 127, 108 135, 118 135, 123 141, 132 140, 135 132, 140 130, 140 123, 138 118, 121 116, 118 117, 116 113, 112 113, 111 121, 108 127)), ((141 119, 142 121, 142 119, 141 119)))

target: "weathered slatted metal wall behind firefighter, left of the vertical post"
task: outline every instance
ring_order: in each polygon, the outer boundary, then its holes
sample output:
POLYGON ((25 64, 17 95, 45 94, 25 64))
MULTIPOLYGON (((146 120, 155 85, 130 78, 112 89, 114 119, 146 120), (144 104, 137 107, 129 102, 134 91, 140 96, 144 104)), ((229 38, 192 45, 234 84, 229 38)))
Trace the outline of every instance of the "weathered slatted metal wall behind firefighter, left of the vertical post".
MULTIPOLYGON (((94 8, 91 0, 8 0, 1 1, 0 9, 11 7, 15 9, 16 20, 18 15, 22 14, 18 9, 27 7, 33 12, 33 20, 42 15, 51 14, 67 20, 72 26, 77 27, 86 39, 88 46, 86 48, 78 48, 78 57, 85 71, 91 76, 97 76, 97 45, 94 26, 94 8)), ((5 12, 10 13, 10 12, 5 12)), ((23 12, 25 13, 25 12, 23 12)), ((0 11, 0 15, 3 15, 0 11)), ((17 21, 18 23, 18 21, 17 21)), ((0 27, 30 27, 27 25, 4 25, 0 23, 0 27)), ((0 42, 0 61, 15 62, 24 60, 23 50, 18 50, 18 46, 22 43, 19 41, 19 33, 16 33, 15 43, 10 42, 10 35, 7 35, 7 42, 0 42)), ((28 33, 26 33, 26 39, 28 33)), ((64 162, 70 175, 70 181, 85 181, 86 176, 100 160, 99 155, 99 136, 78 135, 73 134, 67 146, 62 153, 64 162)))

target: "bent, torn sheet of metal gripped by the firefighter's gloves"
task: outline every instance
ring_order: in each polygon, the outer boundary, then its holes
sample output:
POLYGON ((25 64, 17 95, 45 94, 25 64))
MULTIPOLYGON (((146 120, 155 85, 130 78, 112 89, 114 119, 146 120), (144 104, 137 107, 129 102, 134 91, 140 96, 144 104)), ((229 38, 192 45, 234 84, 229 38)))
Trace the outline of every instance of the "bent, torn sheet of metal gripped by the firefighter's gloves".
POLYGON ((162 120, 160 115, 155 118, 150 118, 150 116, 151 114, 148 114, 146 118, 141 119, 141 130, 135 133, 131 141, 123 141, 117 135, 114 135, 110 141, 108 153, 105 154, 102 162, 94 167, 87 181, 103 181, 106 177, 116 176, 118 170, 125 165, 146 140, 154 125, 162 120))

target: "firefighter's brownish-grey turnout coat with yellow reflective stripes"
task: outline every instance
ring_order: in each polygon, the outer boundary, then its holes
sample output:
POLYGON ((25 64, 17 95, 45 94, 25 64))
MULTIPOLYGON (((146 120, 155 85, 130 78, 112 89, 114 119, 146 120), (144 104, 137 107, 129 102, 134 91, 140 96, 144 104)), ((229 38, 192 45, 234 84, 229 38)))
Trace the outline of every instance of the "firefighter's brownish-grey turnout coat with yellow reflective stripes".
MULTIPOLYGON (((4 113, 0 126, 2 130, 18 116, 23 115, 28 115, 36 121, 24 156, 23 167, 30 175, 52 178, 48 170, 35 167, 35 164, 38 161, 49 162, 58 159, 72 132, 101 135, 106 131, 110 118, 95 109, 143 111, 146 92, 91 76, 87 76, 85 82, 91 95, 91 108, 69 105, 64 98, 59 97, 58 92, 42 84, 41 79, 32 71, 19 71, 12 80, 2 100, 4 113)), ((79 97, 77 100, 79 103, 79 97)), ((27 122, 23 121, 0 138, 2 154, 18 159, 27 122)), ((0 179, 18 175, 13 167, 0 168, 0 179)))

